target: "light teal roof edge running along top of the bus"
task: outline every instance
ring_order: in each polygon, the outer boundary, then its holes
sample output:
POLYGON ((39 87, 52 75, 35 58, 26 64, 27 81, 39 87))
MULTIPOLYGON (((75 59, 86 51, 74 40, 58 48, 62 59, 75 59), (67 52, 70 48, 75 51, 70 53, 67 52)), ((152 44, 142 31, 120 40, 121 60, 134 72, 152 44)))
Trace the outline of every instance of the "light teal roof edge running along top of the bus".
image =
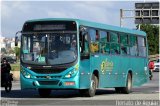
POLYGON ((94 27, 94 28, 105 29, 105 30, 110 30, 110 31, 117 31, 117 32, 124 32, 124 33, 129 33, 129 34, 146 36, 146 33, 143 32, 143 31, 140 31, 140 30, 132 30, 132 29, 128 29, 128 28, 122 28, 122 27, 118 27, 118 26, 112 26, 112 25, 107 25, 107 24, 102 24, 102 23, 97 23, 97 22, 91 22, 91 21, 86 21, 86 20, 81 20, 81 19, 43 18, 43 19, 28 20, 26 22, 54 21, 54 20, 76 21, 79 25, 84 25, 84 26, 88 26, 88 27, 94 27))

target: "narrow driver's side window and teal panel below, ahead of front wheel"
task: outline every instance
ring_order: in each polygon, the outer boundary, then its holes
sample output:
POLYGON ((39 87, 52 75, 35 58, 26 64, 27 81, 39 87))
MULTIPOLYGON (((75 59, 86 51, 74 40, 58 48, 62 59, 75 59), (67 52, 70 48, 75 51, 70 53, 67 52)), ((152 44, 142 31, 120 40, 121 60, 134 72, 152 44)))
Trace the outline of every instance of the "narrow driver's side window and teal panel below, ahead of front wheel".
POLYGON ((80 31, 80 89, 88 89, 90 87, 90 50, 88 34, 80 31))

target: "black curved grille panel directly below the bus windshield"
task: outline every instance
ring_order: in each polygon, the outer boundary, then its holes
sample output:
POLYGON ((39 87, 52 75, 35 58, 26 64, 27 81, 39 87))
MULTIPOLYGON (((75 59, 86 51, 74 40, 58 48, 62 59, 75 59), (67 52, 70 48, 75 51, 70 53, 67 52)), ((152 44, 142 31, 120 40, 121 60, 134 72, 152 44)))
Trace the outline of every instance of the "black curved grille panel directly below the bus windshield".
POLYGON ((56 74, 56 73, 61 73, 66 68, 63 69, 33 69, 32 71, 38 74, 56 74))

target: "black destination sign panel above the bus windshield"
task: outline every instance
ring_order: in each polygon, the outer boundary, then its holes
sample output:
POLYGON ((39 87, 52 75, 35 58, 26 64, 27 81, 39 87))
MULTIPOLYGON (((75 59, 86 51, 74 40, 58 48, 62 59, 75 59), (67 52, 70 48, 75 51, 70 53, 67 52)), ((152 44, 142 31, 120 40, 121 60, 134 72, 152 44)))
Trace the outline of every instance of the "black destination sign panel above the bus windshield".
POLYGON ((45 32, 45 31, 76 31, 74 21, 36 21, 26 22, 22 32, 45 32))

